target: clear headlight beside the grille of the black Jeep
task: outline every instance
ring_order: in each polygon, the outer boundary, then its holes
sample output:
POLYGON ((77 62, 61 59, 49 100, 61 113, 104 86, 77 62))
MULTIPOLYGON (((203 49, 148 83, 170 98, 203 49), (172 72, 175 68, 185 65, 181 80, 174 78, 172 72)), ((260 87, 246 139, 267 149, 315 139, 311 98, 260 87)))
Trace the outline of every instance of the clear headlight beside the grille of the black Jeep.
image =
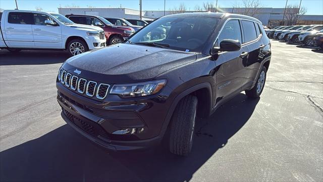
POLYGON ((165 79, 141 83, 115 84, 110 94, 116 94, 122 98, 149 96, 158 93, 165 85, 165 79))

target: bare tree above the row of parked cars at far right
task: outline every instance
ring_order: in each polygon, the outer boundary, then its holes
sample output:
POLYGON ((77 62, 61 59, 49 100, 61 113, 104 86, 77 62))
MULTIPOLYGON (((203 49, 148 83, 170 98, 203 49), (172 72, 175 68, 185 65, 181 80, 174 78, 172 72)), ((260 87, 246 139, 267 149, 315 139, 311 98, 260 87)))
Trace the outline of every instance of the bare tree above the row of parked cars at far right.
POLYGON ((288 25, 297 24, 297 20, 302 17, 307 12, 305 7, 299 8, 297 4, 288 5, 286 8, 285 17, 288 22, 288 25))

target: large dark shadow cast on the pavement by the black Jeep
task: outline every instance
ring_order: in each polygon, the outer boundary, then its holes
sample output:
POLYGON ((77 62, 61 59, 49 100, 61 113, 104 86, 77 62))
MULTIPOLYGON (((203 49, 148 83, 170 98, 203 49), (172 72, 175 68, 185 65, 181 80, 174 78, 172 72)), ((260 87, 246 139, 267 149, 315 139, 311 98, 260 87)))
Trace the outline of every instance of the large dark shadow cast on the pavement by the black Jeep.
POLYGON ((189 181, 249 120, 258 101, 239 94, 209 118, 199 119, 188 157, 171 154, 165 142, 146 151, 110 152, 66 124, 1 152, 0 180, 189 181))

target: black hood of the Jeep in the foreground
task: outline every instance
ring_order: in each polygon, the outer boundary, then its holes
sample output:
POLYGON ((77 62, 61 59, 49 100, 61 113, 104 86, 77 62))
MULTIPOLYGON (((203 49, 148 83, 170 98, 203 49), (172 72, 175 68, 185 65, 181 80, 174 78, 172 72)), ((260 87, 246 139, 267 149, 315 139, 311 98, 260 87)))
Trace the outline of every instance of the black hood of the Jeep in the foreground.
POLYGON ((120 43, 74 56, 63 67, 71 73, 77 68, 83 78, 124 83, 149 80, 195 60, 195 53, 120 43))

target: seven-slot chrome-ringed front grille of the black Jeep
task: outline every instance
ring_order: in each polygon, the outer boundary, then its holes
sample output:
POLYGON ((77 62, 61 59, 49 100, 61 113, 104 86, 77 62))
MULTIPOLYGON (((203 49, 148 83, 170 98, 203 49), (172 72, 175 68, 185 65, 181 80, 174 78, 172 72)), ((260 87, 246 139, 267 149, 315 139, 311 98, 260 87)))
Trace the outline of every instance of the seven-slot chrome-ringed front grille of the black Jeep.
POLYGON ((59 81, 66 87, 78 92, 81 95, 87 97, 96 97, 97 99, 103 100, 107 93, 109 92, 110 85, 105 83, 97 83, 95 81, 86 80, 80 78, 66 70, 60 69, 59 71, 59 81))

